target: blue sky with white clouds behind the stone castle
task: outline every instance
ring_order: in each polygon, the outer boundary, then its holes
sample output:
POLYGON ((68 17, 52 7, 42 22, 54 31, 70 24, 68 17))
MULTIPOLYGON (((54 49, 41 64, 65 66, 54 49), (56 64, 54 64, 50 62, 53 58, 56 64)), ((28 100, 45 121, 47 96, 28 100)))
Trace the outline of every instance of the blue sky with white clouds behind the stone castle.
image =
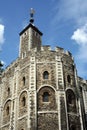
POLYGON ((87 0, 0 0, 0 60, 8 66, 18 57, 19 33, 29 24, 42 31, 43 45, 63 47, 75 60, 78 75, 87 79, 87 0))

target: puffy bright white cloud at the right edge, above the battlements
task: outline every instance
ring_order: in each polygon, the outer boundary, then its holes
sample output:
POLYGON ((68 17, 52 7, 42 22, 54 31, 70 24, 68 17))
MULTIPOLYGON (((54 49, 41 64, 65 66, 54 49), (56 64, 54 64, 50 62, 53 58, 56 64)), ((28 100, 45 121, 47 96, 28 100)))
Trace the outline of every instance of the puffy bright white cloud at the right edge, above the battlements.
POLYGON ((79 45, 77 58, 87 62, 87 24, 74 31, 71 39, 79 45))

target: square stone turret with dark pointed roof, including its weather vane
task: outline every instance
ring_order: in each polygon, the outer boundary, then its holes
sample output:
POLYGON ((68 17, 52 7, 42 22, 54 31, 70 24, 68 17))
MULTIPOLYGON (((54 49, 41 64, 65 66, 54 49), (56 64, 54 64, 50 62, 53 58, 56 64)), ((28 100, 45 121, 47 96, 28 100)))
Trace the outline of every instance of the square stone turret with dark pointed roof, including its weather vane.
POLYGON ((19 56, 25 57, 33 48, 40 50, 42 32, 34 25, 34 13, 30 10, 30 23, 20 32, 20 50, 19 56))

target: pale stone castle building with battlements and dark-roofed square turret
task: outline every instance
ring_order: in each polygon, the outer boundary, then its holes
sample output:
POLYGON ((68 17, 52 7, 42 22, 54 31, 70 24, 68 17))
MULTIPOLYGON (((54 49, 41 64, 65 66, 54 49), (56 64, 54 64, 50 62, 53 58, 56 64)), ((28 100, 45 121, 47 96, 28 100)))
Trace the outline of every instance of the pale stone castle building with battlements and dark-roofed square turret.
POLYGON ((0 75, 0 130, 86 130, 87 81, 70 52, 42 46, 41 37, 29 23, 19 58, 0 75))

